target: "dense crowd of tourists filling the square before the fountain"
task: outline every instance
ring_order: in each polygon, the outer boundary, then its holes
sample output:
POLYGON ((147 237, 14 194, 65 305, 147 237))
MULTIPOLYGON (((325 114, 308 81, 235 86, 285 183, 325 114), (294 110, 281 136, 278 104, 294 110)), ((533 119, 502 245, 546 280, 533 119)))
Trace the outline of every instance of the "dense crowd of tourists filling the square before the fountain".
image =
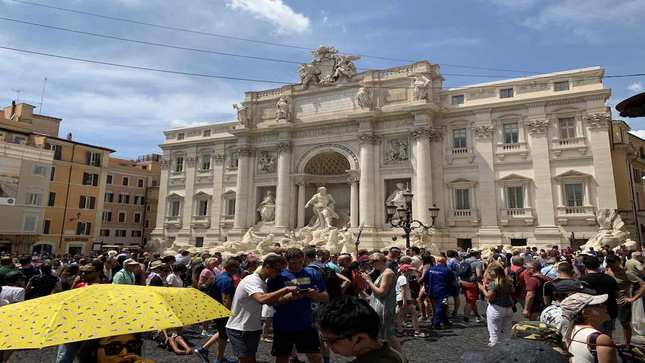
MULTIPOLYGON (((6 255, 0 258, 0 304, 92 284, 199 289, 234 316, 161 329, 152 338, 168 351, 206 363, 253 363, 261 343, 272 344, 278 363, 299 362, 299 354, 328 363, 332 352, 356 362, 407 362, 399 338, 428 337, 419 324, 424 321, 433 330, 486 323, 488 346, 497 349, 511 336, 520 337, 522 324, 550 329, 561 337, 559 354, 572 363, 614 363, 624 357, 613 342, 617 323, 630 344, 633 318, 645 319, 642 255, 625 246, 505 251, 499 245, 485 251, 486 258, 478 249, 437 256, 419 247, 405 252, 356 244, 351 253, 332 255, 313 246, 276 244, 261 258, 240 252, 225 260, 199 250, 161 256, 143 248, 92 258, 6 255), (486 311, 479 311, 478 300, 488 302, 486 311), (513 327, 517 311, 527 322, 513 327), (186 333, 208 340, 194 347, 186 333), (226 357, 229 344, 233 354, 226 357)), ((61 344, 56 362, 97 362, 97 351, 149 362, 141 358, 142 344, 139 334, 61 344), (83 358, 88 354, 93 358, 83 358)))

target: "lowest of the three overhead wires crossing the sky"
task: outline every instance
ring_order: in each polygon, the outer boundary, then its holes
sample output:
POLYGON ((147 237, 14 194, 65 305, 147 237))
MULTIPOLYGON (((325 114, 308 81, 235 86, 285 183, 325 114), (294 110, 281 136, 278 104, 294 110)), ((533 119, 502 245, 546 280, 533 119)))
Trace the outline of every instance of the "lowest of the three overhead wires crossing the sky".
MULTIPOLYGON (((67 57, 67 56, 59 56, 57 54, 50 54, 50 53, 44 53, 44 52, 35 52, 34 50, 25 50, 25 49, 19 49, 19 48, 12 48, 12 47, 3 47, 0 46, 0 49, 7 49, 7 50, 14 50, 16 52, 23 52, 23 53, 28 53, 28 54, 38 54, 40 56, 48 56, 48 57, 56 57, 56 58, 61 58, 61 59, 70 59, 73 61, 81 61, 81 62, 86 62, 86 63, 94 63, 94 64, 101 64, 101 65, 110 65, 114 67, 122 67, 122 68, 132 68, 132 69, 138 69, 138 70, 149 70, 149 71, 154 71, 154 72, 162 72, 162 73, 170 73, 170 74, 181 74, 184 76, 196 76, 196 77, 204 77, 204 78, 218 78, 218 79, 230 79, 233 81, 250 81, 250 82, 259 82, 259 83, 273 83, 273 84, 279 84, 279 85, 299 85, 300 83, 293 83, 293 82, 283 82, 283 81, 268 81, 266 79, 253 79, 253 78, 239 78, 239 77, 228 77, 228 76, 217 76, 215 74, 203 74, 203 73, 194 73, 194 72, 180 72, 177 70, 165 70, 165 69, 159 69, 159 68, 148 68, 148 67, 139 67, 139 66, 134 66, 134 65, 122 65, 119 63, 111 63, 111 62, 105 62, 105 61, 93 61, 91 59, 83 59, 83 58, 77 58, 77 57, 67 57)), ((599 78, 619 78, 619 77, 637 77, 637 76, 645 76, 645 73, 640 73, 640 74, 619 74, 615 76, 586 76, 586 77, 573 77, 573 79, 576 80, 586 80, 586 79, 599 79, 599 78)), ((571 77, 567 77, 564 79, 571 79, 571 77)), ((533 83, 517 83, 515 84, 516 86, 522 86, 522 85, 550 85, 551 82, 533 82, 533 83)), ((380 88, 380 89, 399 89, 399 88, 415 88, 415 87, 401 87, 401 86, 396 86, 396 87, 388 87, 388 86, 382 86, 382 87, 372 87, 372 86, 361 86, 361 85, 309 85, 309 87, 335 87, 335 88, 380 88)), ((455 87, 424 87, 428 89, 446 89, 446 88, 472 88, 473 85, 468 85, 468 86, 455 86, 455 87)), ((477 85, 476 88, 488 88, 488 87, 494 87, 497 88, 499 85, 477 85)))

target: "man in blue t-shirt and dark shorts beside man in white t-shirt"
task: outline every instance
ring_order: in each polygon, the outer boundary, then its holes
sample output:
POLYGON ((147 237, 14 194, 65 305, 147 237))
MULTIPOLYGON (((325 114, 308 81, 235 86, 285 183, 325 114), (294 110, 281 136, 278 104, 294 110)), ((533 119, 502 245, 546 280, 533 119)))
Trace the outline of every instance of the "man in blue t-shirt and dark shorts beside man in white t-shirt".
POLYGON ((286 363, 295 345, 296 351, 306 354, 309 362, 321 363, 323 356, 318 331, 313 327, 312 302, 326 302, 329 299, 327 288, 317 271, 303 268, 303 251, 290 248, 285 255, 287 267, 280 276, 268 280, 267 292, 285 286, 297 286, 299 291, 290 300, 275 306, 271 354, 276 357, 276 363, 286 363))

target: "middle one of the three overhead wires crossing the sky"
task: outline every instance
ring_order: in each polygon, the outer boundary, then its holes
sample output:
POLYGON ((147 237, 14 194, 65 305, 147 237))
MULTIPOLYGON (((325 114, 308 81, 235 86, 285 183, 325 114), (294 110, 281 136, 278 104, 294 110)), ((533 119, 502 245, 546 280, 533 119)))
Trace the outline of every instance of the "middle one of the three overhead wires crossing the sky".
MULTIPOLYGON (((78 33, 78 34, 84 34, 84 35, 87 35, 87 36, 104 37, 104 38, 107 38, 107 39, 128 41, 128 42, 131 42, 131 43, 153 45, 155 47, 165 47, 165 48, 174 48, 174 49, 180 49, 180 50, 189 50, 189 51, 192 51, 192 52, 202 52, 202 53, 208 53, 208 54, 217 54, 218 56, 241 57, 241 58, 248 58, 248 59, 258 59, 258 60, 263 60, 263 61, 291 63, 291 64, 295 64, 295 65, 301 65, 302 63, 307 63, 307 62, 303 62, 303 61, 288 61, 288 60, 285 60, 285 59, 275 59, 275 58, 267 58, 267 57, 246 56, 246 55, 243 55, 243 54, 215 52, 214 50, 204 50, 204 49, 199 49, 199 48, 180 47, 180 46, 177 46, 177 45, 168 45, 168 44, 163 44, 163 43, 154 43, 154 42, 150 42, 150 41, 141 41, 141 40, 137 40, 137 39, 129 39, 129 38, 124 38, 124 37, 108 36, 106 34, 84 32, 82 30, 61 28, 59 26, 32 23, 30 21, 22 21, 22 20, 17 20, 17 19, 10 19, 8 17, 0 17, 0 19, 1 20, 6 20, 6 21, 14 21, 15 23, 21 23, 21 24, 26 24, 26 25, 41 26, 43 28, 50 28, 50 29, 55 29, 55 30, 63 30, 65 32, 73 32, 73 33, 78 33)), ((333 67, 333 65, 323 65, 323 64, 317 64, 316 66, 317 67, 333 67)), ((357 70, 376 70, 376 71, 381 70, 381 69, 372 69, 372 68, 356 68, 356 69, 357 70)), ((442 73, 442 75, 443 76, 459 76, 459 77, 484 77, 484 78, 515 78, 515 77, 517 77, 517 76, 496 76, 496 75, 490 75, 490 74, 451 74, 451 73, 442 73)))

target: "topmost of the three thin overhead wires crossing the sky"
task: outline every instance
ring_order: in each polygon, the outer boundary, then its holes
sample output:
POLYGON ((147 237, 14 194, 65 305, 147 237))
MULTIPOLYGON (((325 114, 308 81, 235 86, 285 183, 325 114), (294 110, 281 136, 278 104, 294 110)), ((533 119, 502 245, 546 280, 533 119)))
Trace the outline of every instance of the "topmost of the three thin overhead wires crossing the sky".
MULTIPOLYGON (((136 21, 136 20, 124 19, 124 18, 121 18, 121 17, 114 17, 114 16, 104 16, 104 15, 96 14, 96 13, 83 12, 81 10, 75 10, 75 9, 70 9, 70 8, 62 8, 60 6, 53 6, 53 5, 45 5, 45 4, 34 3, 32 1, 25 1, 25 0, 13 0, 13 1, 15 1, 16 3, 23 3, 23 4, 26 4, 26 5, 34 5, 34 6, 41 6, 43 8, 51 8, 51 9, 55 9, 55 10, 61 10, 61 11, 64 11, 64 12, 73 12, 73 13, 76 13, 76 14, 82 14, 82 15, 86 15, 86 16, 101 17, 103 19, 124 21, 126 23, 145 25, 145 26, 153 26, 155 28, 163 28, 163 29, 168 29, 168 30, 175 30, 177 32, 187 32, 187 33, 192 33, 192 34, 200 34, 200 35, 203 35, 203 36, 220 37, 220 38, 223 38, 223 39, 230 39, 230 40, 248 41, 248 42, 251 42, 251 43, 259 43, 259 44, 264 44, 264 45, 273 45, 273 46, 276 46, 276 47, 286 47, 286 48, 294 48, 294 49, 302 49, 302 50, 316 50, 315 48, 301 47, 301 46, 298 46, 298 45, 288 45, 288 44, 281 44, 281 43, 273 43, 273 42, 270 42, 270 41, 261 41, 261 40, 257 40, 257 39, 248 39, 248 38, 243 38, 243 37, 224 36, 222 34, 199 32, 198 30, 190 30, 190 29, 185 29, 185 28, 178 28, 178 27, 175 27, 175 26, 167 26, 167 25, 146 23, 144 21, 136 21)), ((406 60, 406 59, 397 59, 397 58, 392 58, 392 57, 370 56, 368 54, 358 54, 358 53, 351 53, 351 52, 347 52, 347 53, 348 54, 353 54, 355 56, 361 56, 361 57, 373 58, 373 59, 383 59, 383 60, 388 60, 388 61, 399 61, 399 62, 406 62, 406 63, 415 63, 415 62, 417 62, 417 61, 410 61, 410 60, 406 60)), ((470 68, 470 69, 481 69, 481 70, 497 70, 497 71, 501 71, 501 72, 517 72, 517 73, 531 73, 531 74, 547 73, 547 72, 532 72, 532 71, 528 71, 528 70, 512 70, 512 69, 501 69, 501 68, 475 67, 475 66, 468 66, 468 65, 452 65, 452 64, 441 63, 441 62, 436 62, 436 63, 439 63, 444 67, 459 67, 459 68, 470 68)))

